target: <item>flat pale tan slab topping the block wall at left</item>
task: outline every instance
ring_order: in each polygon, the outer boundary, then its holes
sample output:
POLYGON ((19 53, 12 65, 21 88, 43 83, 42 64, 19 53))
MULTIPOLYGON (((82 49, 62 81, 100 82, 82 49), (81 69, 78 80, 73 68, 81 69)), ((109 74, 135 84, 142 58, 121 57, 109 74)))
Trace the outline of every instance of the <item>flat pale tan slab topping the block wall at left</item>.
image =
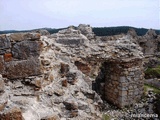
POLYGON ((14 33, 10 35, 12 41, 24 41, 24 40, 39 40, 40 34, 38 33, 14 33))

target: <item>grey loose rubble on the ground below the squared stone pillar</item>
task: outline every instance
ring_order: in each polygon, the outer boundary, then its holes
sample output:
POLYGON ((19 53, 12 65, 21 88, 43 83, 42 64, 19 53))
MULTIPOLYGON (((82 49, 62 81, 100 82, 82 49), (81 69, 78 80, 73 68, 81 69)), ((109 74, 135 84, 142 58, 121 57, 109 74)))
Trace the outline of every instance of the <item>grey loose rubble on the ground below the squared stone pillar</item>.
POLYGON ((158 99, 156 94, 152 91, 148 91, 147 95, 141 100, 141 102, 130 106, 130 108, 118 109, 108 103, 104 103, 104 115, 109 115, 111 119, 138 119, 138 117, 133 117, 133 115, 146 115, 152 114, 153 117, 140 117, 140 119, 155 119, 158 120, 158 114, 154 112, 155 101, 158 99), (151 102, 152 100, 152 102, 151 102), (132 117, 131 117, 132 116, 132 117))

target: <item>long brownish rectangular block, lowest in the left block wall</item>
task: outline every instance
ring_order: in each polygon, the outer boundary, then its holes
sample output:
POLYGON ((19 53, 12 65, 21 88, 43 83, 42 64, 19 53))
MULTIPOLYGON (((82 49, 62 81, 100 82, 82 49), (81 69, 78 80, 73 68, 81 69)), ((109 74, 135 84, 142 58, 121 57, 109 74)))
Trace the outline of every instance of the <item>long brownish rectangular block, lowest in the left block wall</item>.
POLYGON ((5 64, 4 77, 15 79, 24 78, 32 75, 41 74, 40 62, 38 58, 31 58, 29 60, 11 61, 5 64))

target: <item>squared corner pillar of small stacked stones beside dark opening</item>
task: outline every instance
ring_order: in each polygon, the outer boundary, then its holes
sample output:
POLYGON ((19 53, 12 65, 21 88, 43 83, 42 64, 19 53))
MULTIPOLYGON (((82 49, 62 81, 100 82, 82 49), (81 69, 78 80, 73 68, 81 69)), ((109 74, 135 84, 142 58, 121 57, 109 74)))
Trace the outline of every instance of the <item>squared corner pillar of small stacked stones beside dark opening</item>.
POLYGON ((143 95, 142 60, 106 63, 105 98, 120 108, 129 106, 143 95))

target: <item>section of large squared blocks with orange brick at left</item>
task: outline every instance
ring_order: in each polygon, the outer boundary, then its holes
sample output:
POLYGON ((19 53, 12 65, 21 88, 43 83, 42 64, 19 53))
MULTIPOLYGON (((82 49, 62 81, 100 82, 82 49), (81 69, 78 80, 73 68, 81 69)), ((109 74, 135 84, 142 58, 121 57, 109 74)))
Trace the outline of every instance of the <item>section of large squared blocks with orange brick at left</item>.
POLYGON ((39 75, 39 39, 37 33, 0 35, 0 74, 9 79, 39 75))

